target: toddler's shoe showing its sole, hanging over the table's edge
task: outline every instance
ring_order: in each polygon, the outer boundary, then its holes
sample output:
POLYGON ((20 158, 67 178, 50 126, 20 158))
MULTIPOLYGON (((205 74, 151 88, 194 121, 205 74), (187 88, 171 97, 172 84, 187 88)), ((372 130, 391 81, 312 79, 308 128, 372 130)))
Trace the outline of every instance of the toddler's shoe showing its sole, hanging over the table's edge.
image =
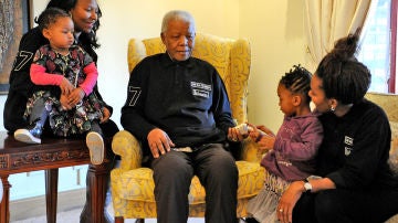
POLYGON ((104 161, 104 140, 98 132, 90 131, 86 136, 86 145, 90 151, 90 159, 93 164, 101 164, 104 161))

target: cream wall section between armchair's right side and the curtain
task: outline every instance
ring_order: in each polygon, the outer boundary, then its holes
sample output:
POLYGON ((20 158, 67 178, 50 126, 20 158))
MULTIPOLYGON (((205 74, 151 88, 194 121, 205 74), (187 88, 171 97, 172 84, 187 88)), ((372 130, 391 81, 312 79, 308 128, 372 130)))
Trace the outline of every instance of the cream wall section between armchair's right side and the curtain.
POLYGON ((249 121, 276 131, 283 114, 279 109, 277 83, 293 64, 305 65, 304 0, 241 0, 240 36, 251 41, 249 121))

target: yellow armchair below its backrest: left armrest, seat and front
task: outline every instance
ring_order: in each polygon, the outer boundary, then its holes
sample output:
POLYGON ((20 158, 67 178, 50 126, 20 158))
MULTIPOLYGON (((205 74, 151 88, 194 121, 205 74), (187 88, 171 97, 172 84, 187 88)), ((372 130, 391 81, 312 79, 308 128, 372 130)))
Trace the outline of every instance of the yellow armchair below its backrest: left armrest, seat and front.
MULTIPOLYGON (((137 161, 136 155, 139 159, 140 146, 137 139, 128 131, 122 130, 114 136, 112 148, 115 153, 122 156, 121 168, 111 172, 115 216, 156 217, 153 170, 143 167, 126 168, 134 167, 133 163, 137 161)), ((237 214, 247 216, 248 201, 263 187, 264 169, 256 161, 240 160, 237 161, 237 166, 239 170, 237 214)), ((190 216, 205 215, 205 188, 200 184, 199 179, 193 177, 188 195, 190 216)))

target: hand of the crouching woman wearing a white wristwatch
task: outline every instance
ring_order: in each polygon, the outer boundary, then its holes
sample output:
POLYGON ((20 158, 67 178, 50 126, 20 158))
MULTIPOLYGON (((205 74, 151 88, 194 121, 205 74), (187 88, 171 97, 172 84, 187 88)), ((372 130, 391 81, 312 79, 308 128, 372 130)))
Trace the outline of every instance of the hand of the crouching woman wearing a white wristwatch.
POLYGON ((292 222, 293 208, 304 191, 304 181, 294 181, 289 185, 276 208, 276 215, 280 222, 292 222))

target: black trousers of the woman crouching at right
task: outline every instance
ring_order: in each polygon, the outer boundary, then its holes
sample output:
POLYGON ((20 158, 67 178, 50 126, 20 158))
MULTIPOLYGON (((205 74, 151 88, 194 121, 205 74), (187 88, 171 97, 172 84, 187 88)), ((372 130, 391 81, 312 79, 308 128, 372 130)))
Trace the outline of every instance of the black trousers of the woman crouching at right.
POLYGON ((398 213, 398 191, 326 190, 304 193, 293 210, 293 222, 385 222, 398 213))

